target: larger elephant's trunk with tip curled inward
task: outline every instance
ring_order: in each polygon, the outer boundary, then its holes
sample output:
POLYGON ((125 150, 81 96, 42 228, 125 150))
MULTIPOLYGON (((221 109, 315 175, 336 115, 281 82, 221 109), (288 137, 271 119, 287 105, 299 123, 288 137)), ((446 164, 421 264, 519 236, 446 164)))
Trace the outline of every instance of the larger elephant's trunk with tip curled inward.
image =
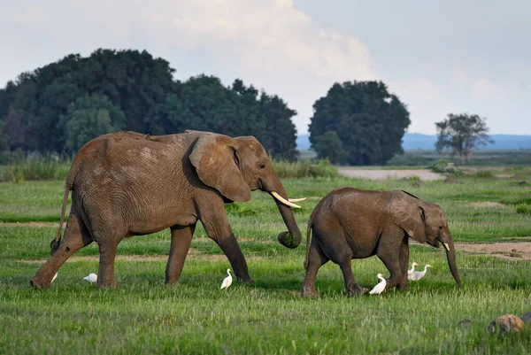
MULTIPOLYGON (((284 189, 281 180, 276 175, 274 176, 274 181, 271 185, 272 186, 269 186, 265 183, 265 181, 262 181, 262 186, 265 191, 269 192, 272 196, 273 192, 276 192, 276 194, 280 195, 284 200, 289 201, 288 195, 286 194, 286 190, 284 189)), ((278 240, 285 247, 294 249, 299 246, 303 238, 300 229, 296 225, 296 220, 293 215, 293 211, 288 205, 279 200, 279 198, 273 196, 273 199, 277 207, 279 208, 279 212, 281 212, 284 224, 286 224, 286 227, 288 228, 287 232, 281 232, 278 235, 278 240)))

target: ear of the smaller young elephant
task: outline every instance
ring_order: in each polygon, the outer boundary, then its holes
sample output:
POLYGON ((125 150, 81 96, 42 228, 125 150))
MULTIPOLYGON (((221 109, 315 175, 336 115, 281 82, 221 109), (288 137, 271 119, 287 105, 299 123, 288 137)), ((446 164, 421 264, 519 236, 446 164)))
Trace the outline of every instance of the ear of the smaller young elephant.
POLYGON ((405 191, 396 191, 389 205, 391 219, 396 226, 419 243, 426 243, 426 215, 419 198, 405 191))

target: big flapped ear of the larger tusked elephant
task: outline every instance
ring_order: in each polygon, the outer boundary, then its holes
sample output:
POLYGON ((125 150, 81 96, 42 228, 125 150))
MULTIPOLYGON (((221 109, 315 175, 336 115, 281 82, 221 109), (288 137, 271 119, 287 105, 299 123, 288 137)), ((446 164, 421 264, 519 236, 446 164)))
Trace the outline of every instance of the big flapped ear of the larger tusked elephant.
POLYGON ((229 200, 246 202, 250 200, 250 188, 237 161, 233 139, 227 135, 201 136, 190 154, 190 162, 205 185, 217 189, 229 200))

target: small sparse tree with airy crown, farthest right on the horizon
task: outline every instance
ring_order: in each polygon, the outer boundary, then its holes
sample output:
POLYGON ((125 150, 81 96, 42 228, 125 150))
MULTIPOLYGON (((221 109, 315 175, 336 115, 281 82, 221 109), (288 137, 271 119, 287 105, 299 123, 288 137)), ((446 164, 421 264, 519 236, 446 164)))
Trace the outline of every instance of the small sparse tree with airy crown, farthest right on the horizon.
POLYGON ((488 133, 487 119, 481 118, 477 114, 449 113, 446 120, 435 122, 437 128, 436 150, 451 150, 452 156, 459 156, 461 165, 469 162, 472 158, 473 150, 494 143, 488 133))

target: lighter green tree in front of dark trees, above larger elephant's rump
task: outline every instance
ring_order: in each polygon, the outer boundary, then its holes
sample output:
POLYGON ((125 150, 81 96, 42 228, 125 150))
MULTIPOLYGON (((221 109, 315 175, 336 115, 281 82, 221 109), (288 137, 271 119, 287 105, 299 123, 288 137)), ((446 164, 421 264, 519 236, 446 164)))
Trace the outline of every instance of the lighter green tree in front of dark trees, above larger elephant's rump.
POLYGON ((124 125, 124 113, 102 95, 83 96, 68 105, 63 118, 66 150, 75 152, 98 135, 118 132, 124 125))

